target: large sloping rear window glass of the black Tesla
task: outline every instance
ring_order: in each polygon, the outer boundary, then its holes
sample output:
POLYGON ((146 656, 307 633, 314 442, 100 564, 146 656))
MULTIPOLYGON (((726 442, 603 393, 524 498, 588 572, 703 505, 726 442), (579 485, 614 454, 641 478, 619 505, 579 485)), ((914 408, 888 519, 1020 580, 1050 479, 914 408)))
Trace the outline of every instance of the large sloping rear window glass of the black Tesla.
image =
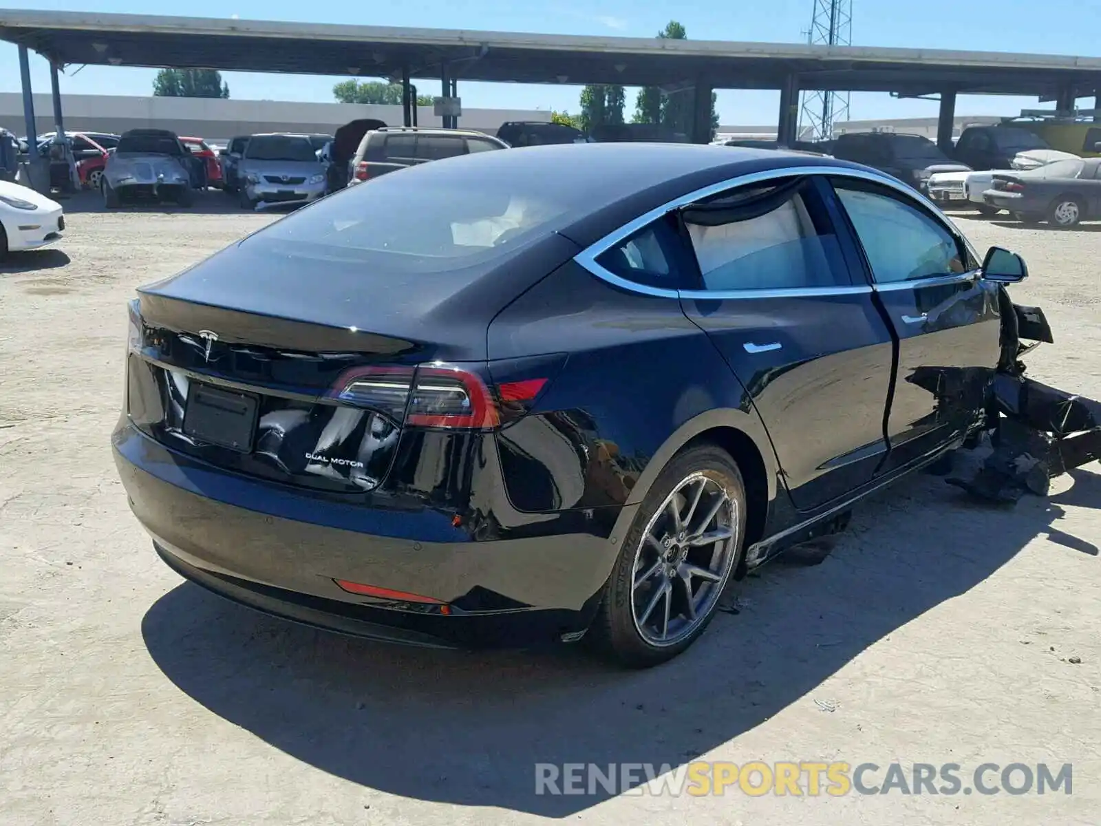
MULTIPOLYGON (((460 142, 461 144, 461 142, 460 142)), ((486 160, 425 164, 352 186, 276 221, 243 244, 279 254, 357 261, 364 272, 444 272, 491 262, 557 231, 581 209, 584 191, 531 167, 510 175, 486 160)), ((590 198, 591 199, 591 196, 590 198)), ((318 276, 324 268, 316 270, 318 276)))

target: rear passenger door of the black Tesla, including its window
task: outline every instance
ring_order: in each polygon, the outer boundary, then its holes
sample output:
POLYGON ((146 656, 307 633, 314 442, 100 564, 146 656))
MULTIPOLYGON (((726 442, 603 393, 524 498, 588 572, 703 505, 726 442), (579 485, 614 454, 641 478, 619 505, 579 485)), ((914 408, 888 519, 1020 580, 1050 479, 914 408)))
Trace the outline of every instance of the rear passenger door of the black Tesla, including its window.
POLYGON ((753 399, 799 510, 870 481, 886 453, 891 330, 824 192, 789 174, 682 210, 699 279, 684 312, 753 399))

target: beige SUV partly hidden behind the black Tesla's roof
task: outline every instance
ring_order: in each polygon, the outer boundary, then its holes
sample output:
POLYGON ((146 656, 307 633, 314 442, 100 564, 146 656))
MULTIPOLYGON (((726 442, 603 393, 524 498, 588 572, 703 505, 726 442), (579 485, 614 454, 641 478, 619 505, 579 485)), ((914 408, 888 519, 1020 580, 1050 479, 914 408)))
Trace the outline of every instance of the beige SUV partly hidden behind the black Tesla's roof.
POLYGON ((432 127, 383 127, 363 135, 351 160, 351 180, 368 181, 428 161, 509 149, 484 132, 432 127))

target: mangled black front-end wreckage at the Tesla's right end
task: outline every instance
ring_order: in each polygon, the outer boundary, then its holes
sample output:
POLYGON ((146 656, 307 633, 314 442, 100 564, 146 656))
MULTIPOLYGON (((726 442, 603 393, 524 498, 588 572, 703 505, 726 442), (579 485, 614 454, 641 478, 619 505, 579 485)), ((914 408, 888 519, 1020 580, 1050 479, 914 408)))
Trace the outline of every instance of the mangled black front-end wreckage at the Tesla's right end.
POLYGON ((986 432, 993 450, 974 476, 947 479, 1000 502, 1016 502, 1026 492, 1046 496, 1053 478, 1101 458, 1101 402, 1024 376, 1021 356, 1055 338, 1039 307, 1012 307, 1004 316, 1003 363, 990 388, 986 432))

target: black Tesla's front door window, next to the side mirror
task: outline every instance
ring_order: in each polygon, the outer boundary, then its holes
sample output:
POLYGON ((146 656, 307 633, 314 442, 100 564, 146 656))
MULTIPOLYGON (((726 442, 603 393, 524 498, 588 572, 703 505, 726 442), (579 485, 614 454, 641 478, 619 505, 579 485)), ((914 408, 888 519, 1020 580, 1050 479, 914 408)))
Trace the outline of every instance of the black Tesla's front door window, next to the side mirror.
POLYGON ((966 271, 969 257, 956 236, 911 198, 859 180, 835 178, 832 183, 876 283, 966 271))

